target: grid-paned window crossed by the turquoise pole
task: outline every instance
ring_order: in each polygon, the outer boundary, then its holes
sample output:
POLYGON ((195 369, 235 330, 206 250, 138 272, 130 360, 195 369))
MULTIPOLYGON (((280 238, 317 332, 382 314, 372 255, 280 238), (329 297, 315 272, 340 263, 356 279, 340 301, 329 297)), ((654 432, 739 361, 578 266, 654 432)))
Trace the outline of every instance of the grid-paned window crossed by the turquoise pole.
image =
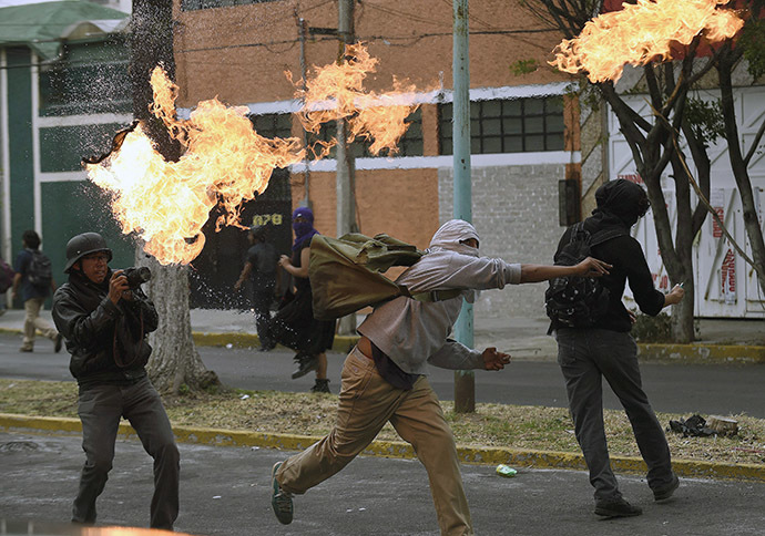
MULTIPOLYGON (((453 105, 438 111, 439 154, 453 154, 453 105)), ((564 130, 560 96, 470 103, 471 154, 562 151, 564 130)))

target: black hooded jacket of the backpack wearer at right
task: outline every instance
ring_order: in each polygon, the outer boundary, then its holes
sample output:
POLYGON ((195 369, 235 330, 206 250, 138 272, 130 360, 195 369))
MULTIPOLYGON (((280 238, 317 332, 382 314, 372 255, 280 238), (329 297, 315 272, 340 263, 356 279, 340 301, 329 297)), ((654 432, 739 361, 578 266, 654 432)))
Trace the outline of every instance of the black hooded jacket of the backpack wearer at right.
MULTIPOLYGON (((592 216, 584 220, 584 229, 594 234, 604 229, 618 229, 622 236, 612 238, 603 244, 594 246, 590 254, 592 257, 613 265, 610 274, 601 278, 601 282, 610 292, 609 310, 593 326, 593 328, 609 329, 612 331, 630 331, 632 321, 622 303, 624 286, 629 281, 632 296, 640 310, 655 317, 664 307, 664 293, 653 286, 653 277, 649 269, 643 248, 640 243, 630 236, 630 228, 641 217, 641 210, 636 197, 644 196, 640 186, 624 181, 613 181, 599 188, 598 208, 592 216)), ((571 228, 567 229, 558 244, 555 258, 563 246, 569 243, 571 228)), ((564 326, 552 322, 551 330, 564 326)))

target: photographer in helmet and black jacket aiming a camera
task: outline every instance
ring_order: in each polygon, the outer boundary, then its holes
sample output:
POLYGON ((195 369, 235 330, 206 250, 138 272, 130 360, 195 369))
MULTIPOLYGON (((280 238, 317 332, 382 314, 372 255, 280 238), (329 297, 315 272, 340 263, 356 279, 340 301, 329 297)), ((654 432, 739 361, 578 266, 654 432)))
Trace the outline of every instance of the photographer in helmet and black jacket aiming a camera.
POLYGON ((178 451, 162 400, 146 375, 146 334, 157 327, 154 305, 140 288, 145 269, 112 271, 112 250, 98 233, 67 244, 69 282, 53 296, 53 320, 72 354, 69 370, 80 395, 85 465, 72 522, 95 523, 95 499, 112 468, 120 419, 154 458, 151 527, 172 530, 178 512, 178 451), (129 272, 128 277, 125 272, 129 272))

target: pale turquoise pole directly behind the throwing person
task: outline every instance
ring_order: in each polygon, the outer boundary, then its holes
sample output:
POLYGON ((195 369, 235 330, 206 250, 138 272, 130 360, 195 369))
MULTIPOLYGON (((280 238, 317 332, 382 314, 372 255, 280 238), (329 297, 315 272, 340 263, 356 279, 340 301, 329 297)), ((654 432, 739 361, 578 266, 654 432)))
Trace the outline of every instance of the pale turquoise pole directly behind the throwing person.
MULTIPOLYGON (((472 192, 470 182, 470 48, 468 45, 468 0, 453 0, 453 216, 472 221, 472 192)), ((468 348, 473 347, 472 303, 462 302, 457 323, 456 339, 468 348)), ((476 377, 471 370, 455 372, 455 411, 476 411, 476 377)))

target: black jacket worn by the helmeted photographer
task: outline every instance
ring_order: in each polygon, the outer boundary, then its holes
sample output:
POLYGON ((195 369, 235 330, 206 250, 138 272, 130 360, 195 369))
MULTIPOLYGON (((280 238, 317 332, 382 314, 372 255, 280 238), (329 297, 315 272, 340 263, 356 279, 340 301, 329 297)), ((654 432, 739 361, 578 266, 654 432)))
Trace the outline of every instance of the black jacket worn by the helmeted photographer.
POLYGON ((132 383, 146 375, 152 348, 146 334, 159 316, 141 289, 133 301, 109 299, 111 270, 102 285, 78 271, 53 296, 53 321, 72 354, 69 370, 81 386, 95 383, 132 383))

